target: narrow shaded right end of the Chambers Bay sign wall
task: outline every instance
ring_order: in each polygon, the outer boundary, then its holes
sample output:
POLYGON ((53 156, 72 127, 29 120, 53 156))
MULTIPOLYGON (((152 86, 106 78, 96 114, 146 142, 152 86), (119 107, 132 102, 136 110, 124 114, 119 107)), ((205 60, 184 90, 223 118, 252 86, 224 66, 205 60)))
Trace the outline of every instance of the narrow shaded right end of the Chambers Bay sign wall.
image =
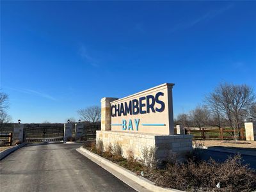
POLYGON ((169 134, 174 134, 174 121, 173 121, 173 100, 172 100, 172 88, 173 83, 167 84, 168 89, 168 118, 169 118, 169 134))

